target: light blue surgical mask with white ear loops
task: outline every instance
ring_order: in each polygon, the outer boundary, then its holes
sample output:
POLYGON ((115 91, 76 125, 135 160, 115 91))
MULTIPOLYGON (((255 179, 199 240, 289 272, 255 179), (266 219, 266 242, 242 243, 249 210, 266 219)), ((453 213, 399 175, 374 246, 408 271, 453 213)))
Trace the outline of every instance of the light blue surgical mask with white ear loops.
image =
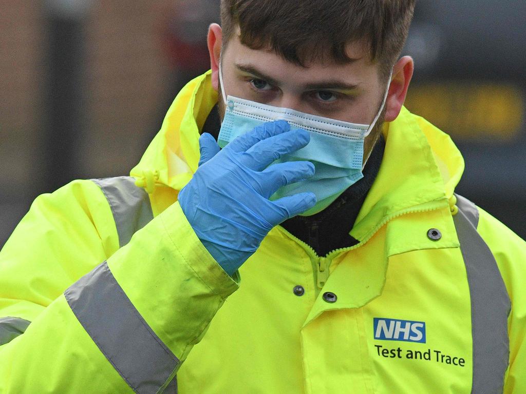
POLYGON ((375 119, 370 125, 360 125, 227 96, 221 66, 219 83, 226 106, 218 137, 221 148, 256 126, 274 120, 286 120, 291 129, 304 129, 310 133, 310 142, 306 147, 286 154, 274 163, 307 160, 314 164, 315 174, 307 180, 283 186, 270 200, 301 192, 312 192, 316 194, 316 205, 302 214, 309 216, 327 208, 343 191, 363 178, 362 170, 367 162, 367 159, 363 160, 363 141, 380 117, 386 103, 389 84, 375 119))

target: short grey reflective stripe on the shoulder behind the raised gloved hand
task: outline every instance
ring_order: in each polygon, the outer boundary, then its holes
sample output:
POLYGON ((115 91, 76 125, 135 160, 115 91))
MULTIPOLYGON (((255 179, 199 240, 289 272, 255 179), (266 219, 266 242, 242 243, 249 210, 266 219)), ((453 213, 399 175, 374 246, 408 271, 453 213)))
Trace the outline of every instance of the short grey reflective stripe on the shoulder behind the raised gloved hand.
POLYGON ((151 219, 148 193, 135 185, 131 177, 92 179, 100 186, 112 209, 113 219, 119 235, 119 246, 126 245, 136 231, 142 229, 151 219))

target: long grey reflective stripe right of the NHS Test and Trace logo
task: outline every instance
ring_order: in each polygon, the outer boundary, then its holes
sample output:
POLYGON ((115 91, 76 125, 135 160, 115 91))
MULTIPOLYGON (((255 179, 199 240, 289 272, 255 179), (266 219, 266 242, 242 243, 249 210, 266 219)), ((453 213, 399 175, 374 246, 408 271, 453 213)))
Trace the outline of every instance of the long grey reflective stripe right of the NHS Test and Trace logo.
POLYGON ((471 295, 473 338, 473 394, 502 393, 508 368, 510 297, 488 245, 477 232, 479 211, 457 195, 459 212, 453 216, 471 295))

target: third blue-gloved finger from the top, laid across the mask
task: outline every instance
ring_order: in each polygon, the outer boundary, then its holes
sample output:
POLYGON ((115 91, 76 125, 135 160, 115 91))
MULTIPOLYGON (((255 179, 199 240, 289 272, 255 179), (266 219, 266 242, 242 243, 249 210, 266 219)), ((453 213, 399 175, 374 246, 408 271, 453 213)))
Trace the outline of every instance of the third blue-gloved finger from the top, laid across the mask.
POLYGON ((281 186, 303 181, 314 175, 314 164, 310 161, 288 161, 270 165, 261 172, 263 195, 269 198, 281 186))

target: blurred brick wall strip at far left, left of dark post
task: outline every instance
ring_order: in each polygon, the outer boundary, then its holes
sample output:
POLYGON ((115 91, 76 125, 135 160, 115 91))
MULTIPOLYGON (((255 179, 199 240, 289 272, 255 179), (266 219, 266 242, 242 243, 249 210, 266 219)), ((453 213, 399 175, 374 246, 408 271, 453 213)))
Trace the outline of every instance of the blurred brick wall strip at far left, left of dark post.
POLYGON ((0 7, 0 201, 31 192, 41 129, 42 24, 31 2, 0 7))

